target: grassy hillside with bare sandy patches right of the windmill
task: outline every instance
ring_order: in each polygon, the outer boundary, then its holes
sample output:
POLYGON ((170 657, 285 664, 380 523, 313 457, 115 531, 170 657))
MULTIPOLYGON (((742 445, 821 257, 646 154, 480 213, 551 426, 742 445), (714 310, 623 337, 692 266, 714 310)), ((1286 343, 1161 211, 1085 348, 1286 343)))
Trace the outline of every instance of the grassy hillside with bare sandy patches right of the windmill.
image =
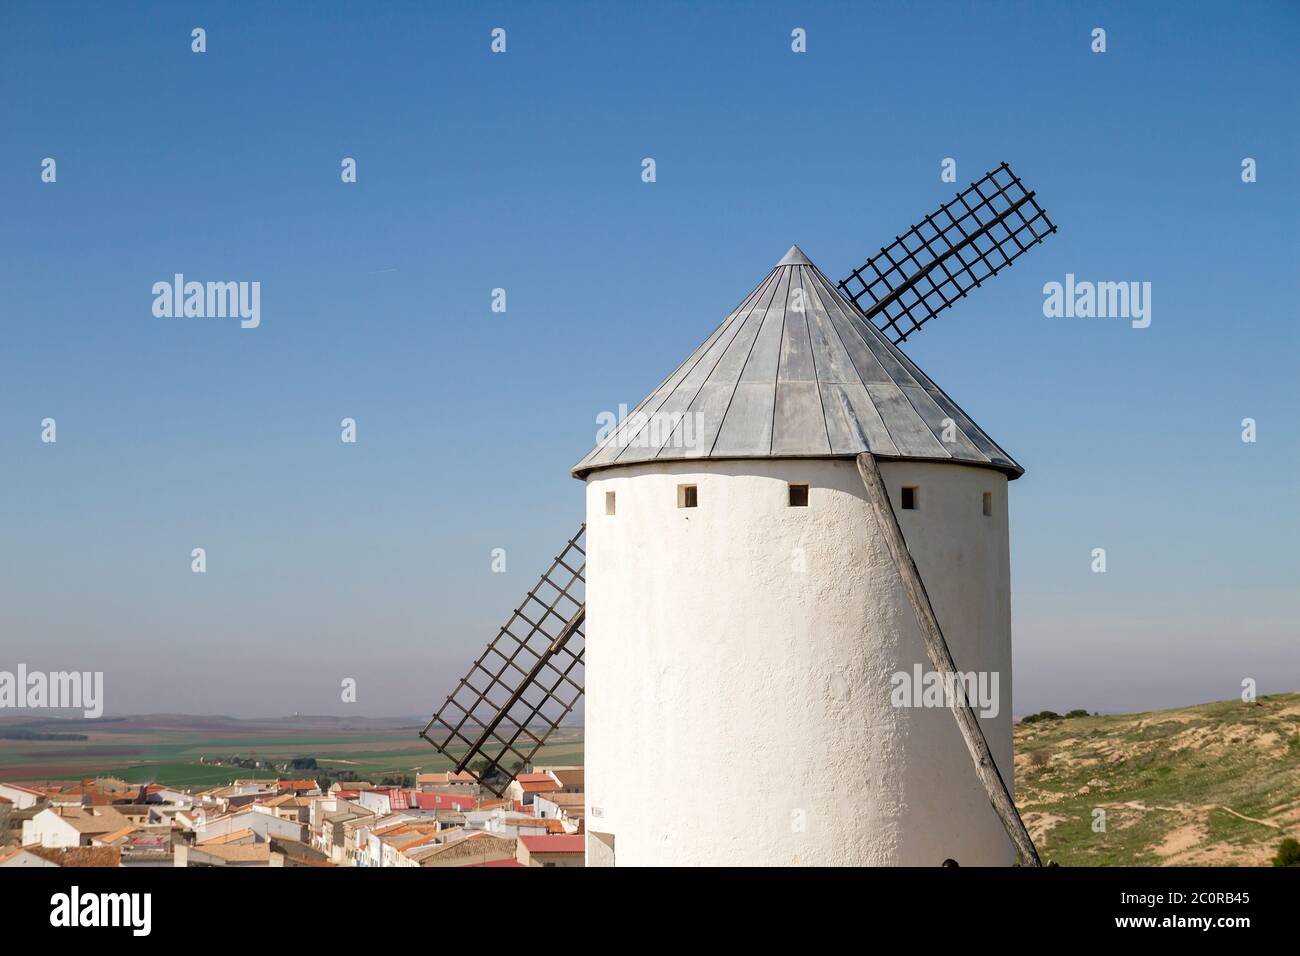
POLYGON ((1062 866, 1268 865, 1300 838, 1300 693, 1017 724, 1015 795, 1062 866))

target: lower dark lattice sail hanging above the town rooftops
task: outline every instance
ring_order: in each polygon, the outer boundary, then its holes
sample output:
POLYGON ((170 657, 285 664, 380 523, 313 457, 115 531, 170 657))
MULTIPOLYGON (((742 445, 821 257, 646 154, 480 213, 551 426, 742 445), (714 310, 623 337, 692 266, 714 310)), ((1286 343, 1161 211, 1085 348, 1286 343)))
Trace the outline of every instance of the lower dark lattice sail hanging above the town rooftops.
POLYGON ((585 535, 584 523, 420 731, 456 771, 486 757, 474 775, 497 796, 582 696, 585 535))

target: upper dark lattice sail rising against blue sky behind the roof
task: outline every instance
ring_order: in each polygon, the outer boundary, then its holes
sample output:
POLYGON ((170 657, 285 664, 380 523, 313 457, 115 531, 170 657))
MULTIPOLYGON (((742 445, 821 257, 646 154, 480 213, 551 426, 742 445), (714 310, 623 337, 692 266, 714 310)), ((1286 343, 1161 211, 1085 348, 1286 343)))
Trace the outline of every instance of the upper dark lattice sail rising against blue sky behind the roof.
POLYGON ((881 247, 840 289, 894 345, 1057 230, 1004 163, 881 247))

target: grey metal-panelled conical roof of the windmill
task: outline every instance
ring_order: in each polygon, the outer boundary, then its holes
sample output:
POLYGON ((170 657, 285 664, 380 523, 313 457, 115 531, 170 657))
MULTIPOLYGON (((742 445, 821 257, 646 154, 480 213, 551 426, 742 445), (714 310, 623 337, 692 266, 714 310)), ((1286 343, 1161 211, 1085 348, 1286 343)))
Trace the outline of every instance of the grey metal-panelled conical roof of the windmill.
POLYGON ((1024 473, 790 246, 573 475, 640 462, 848 458, 868 450, 881 459, 1024 473))

